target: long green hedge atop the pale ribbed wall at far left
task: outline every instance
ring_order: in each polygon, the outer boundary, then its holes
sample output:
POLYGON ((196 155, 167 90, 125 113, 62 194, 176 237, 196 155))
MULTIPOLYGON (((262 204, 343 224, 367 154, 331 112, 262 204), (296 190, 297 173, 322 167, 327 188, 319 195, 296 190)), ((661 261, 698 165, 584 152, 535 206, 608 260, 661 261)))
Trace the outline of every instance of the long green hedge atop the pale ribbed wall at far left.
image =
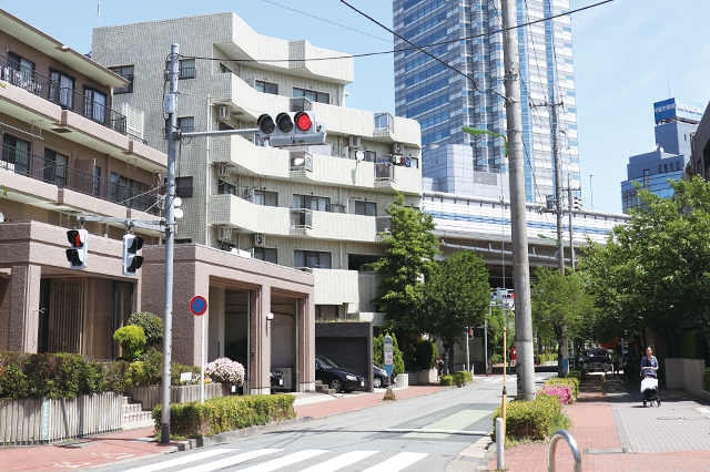
MULTIPOLYGON (((144 360, 132 363, 124 360, 98 362, 63 352, 0 352, 0 399, 74 398, 160 384, 162 365, 163 355, 154 349, 144 355, 144 360)), ((200 368, 172 362, 171 384, 181 384, 182 372, 200 373, 200 368)))

